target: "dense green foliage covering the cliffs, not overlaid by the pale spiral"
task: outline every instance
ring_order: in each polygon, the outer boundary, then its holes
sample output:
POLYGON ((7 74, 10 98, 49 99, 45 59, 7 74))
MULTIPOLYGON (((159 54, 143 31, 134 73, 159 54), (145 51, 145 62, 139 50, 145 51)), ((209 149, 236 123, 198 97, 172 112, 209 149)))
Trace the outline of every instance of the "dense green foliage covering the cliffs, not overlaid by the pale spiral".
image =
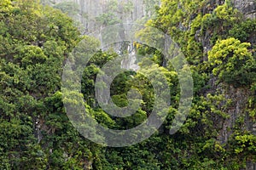
MULTIPOLYGON (((61 74, 67 56, 82 39, 87 49, 99 45, 92 37, 81 36, 73 20, 61 13, 72 15, 73 10, 68 11, 72 5, 55 5, 61 9, 57 10, 34 0, 0 2, 0 169, 241 169, 247 161, 256 162, 255 132, 247 127, 256 122, 256 20, 245 19, 230 1, 161 2, 157 17, 147 26, 170 34, 181 46, 195 83, 192 108, 183 127, 170 135, 180 97, 177 72, 166 67, 159 51, 137 44, 137 54, 155 63, 142 60, 144 71, 153 74, 160 69, 166 76, 172 105, 158 132, 124 148, 84 139, 66 115, 61 74), (239 90, 242 96, 230 94, 239 90), (245 104, 232 122, 230 116, 241 98, 245 104), (227 122, 233 123, 227 130, 232 133, 222 139, 227 122)), ((108 8, 118 12, 116 1, 111 4, 108 8)), ((125 3, 122 12, 131 6, 125 3)), ((111 12, 96 21, 101 26, 119 23, 111 12)), ((129 129, 152 111, 154 91, 142 74, 126 71, 111 85, 113 102, 128 105, 127 92, 136 88, 143 96, 141 108, 125 118, 102 111, 95 97, 96 75, 117 56, 97 51, 84 68, 81 92, 97 122, 129 129)))

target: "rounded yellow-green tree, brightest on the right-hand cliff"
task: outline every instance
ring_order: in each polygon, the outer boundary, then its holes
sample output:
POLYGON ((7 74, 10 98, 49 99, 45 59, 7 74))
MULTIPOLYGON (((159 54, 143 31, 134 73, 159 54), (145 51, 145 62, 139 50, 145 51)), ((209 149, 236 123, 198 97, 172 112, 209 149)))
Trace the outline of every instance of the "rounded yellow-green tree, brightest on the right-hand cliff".
POLYGON ((255 81, 256 60, 248 51, 249 43, 229 38, 216 42, 209 52, 212 73, 220 82, 235 86, 250 86, 255 81))

